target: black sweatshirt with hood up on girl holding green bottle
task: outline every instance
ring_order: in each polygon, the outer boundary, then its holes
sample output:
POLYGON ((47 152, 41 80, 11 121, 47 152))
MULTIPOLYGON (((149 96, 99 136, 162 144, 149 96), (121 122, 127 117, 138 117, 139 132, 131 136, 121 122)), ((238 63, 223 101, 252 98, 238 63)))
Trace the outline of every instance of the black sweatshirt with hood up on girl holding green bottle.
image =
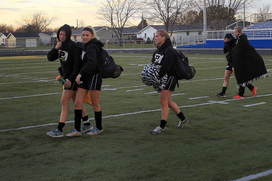
POLYGON ((57 50, 55 47, 48 52, 47 58, 49 61, 55 61, 59 58, 61 67, 58 71, 64 79, 69 79, 71 82, 75 81, 81 68, 80 51, 78 45, 71 40, 72 30, 68 24, 63 25, 57 32, 57 38, 59 39, 59 33, 61 30, 66 32, 66 40, 62 42, 61 47, 57 50))

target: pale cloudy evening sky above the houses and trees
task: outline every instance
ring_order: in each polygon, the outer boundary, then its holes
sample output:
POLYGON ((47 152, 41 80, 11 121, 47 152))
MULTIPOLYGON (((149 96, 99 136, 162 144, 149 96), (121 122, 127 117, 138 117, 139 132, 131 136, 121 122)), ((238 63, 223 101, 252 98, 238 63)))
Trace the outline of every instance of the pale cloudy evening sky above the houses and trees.
MULTIPOLYGON (((95 18, 94 13, 101 0, 0 0, 0 24, 12 24, 17 27, 16 21, 20 21, 21 15, 33 11, 44 11, 49 16, 57 16, 58 20, 51 27, 59 27, 63 24, 76 26, 77 19, 82 19, 85 24, 92 26, 105 25, 101 20, 95 18)), ((103 0, 102 0, 103 1, 103 0)), ((270 4, 271 0, 258 0, 257 5, 270 4)), ((257 10, 252 9, 254 13, 257 10)), ((140 19, 133 22, 138 25, 140 19)))

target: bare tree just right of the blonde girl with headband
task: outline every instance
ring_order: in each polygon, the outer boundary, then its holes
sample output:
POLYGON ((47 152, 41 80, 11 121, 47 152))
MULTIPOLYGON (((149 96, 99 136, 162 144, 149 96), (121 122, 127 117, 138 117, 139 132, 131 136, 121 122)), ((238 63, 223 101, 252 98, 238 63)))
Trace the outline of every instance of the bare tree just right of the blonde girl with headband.
POLYGON ((121 46, 123 28, 132 25, 131 18, 139 17, 142 6, 138 0, 106 0, 101 2, 96 17, 112 27, 121 46))

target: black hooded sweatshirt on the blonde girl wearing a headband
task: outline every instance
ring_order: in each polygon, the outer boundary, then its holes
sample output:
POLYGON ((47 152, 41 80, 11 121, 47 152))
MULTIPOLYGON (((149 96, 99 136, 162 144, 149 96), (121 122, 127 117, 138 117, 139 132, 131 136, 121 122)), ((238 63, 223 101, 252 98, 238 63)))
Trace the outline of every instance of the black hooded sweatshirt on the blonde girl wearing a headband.
POLYGON ((100 40, 96 38, 91 39, 88 43, 84 44, 81 53, 81 60, 83 67, 79 74, 81 76, 94 75, 99 73, 98 60, 100 59, 100 49, 104 46, 100 40))

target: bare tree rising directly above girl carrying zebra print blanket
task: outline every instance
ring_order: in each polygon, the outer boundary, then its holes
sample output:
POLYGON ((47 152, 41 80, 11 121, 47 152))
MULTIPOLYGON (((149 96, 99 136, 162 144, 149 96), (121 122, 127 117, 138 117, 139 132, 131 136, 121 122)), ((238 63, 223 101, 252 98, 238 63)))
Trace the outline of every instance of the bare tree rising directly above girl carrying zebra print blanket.
POLYGON ((165 30, 171 29, 177 24, 178 17, 191 7, 188 0, 147 0, 144 6, 144 13, 150 21, 164 24, 165 30))

